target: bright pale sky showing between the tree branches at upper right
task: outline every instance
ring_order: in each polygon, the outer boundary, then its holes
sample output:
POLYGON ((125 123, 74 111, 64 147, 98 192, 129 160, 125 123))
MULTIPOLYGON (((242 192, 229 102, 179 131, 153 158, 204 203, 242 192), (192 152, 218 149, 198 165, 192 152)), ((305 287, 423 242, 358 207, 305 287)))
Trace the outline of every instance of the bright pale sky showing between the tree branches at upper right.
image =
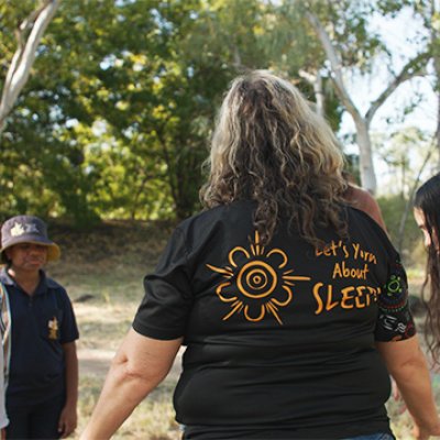
MULTIPOLYGON (((393 53, 393 61, 387 65, 386 59, 380 59, 373 75, 367 77, 346 76, 346 88, 352 96, 356 107, 364 114, 372 100, 377 98, 389 82, 388 69, 399 72, 406 62, 417 54, 420 47, 417 30, 422 29, 421 22, 417 22, 409 11, 400 14, 395 20, 376 16, 372 28, 380 32, 387 46, 393 53)), ((428 72, 432 72, 432 66, 428 66, 428 72)), ((384 140, 389 138, 392 132, 400 129, 417 127, 428 133, 435 133, 437 127, 437 96, 432 89, 431 77, 416 77, 400 85, 384 105, 377 110, 371 125, 371 133, 382 133, 384 140), (420 97, 415 110, 400 121, 403 109, 420 97), (393 122, 391 122, 393 121, 393 122)), ((354 133, 354 123, 351 116, 344 112, 340 135, 354 133)), ((356 146, 348 146, 348 153, 358 152, 356 146)), ((393 170, 375 155, 375 168, 378 180, 378 194, 387 193, 393 183, 393 170)), ((413 160, 413 158, 411 158, 413 160)), ((416 161, 417 162, 417 161, 416 161)), ((420 161, 419 161, 420 162, 420 161)), ((416 163, 415 163, 415 166, 416 163)))

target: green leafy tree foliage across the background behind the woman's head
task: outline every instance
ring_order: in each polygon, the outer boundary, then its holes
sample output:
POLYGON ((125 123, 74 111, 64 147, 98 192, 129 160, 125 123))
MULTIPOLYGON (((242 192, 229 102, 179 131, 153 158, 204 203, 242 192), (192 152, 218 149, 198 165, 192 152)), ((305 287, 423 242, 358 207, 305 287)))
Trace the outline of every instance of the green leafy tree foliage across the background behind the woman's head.
MULTIPOLYGON (((299 70, 320 72, 326 117, 338 130, 342 108, 305 8, 332 32, 343 63, 367 70, 384 51, 370 32, 373 7, 361 0, 62 2, 0 140, 0 211, 82 224, 193 213, 229 81, 249 68, 272 68, 312 100, 299 70)), ((3 74, 14 28, 33 8, 0 0, 3 74)))

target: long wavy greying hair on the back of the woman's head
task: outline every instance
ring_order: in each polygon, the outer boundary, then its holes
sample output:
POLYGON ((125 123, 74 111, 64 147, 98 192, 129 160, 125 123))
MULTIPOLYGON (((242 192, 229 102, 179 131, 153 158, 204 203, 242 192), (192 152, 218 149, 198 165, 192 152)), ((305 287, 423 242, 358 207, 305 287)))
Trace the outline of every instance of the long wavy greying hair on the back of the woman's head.
POLYGON ((340 234, 343 157, 328 124, 288 81, 265 70, 237 78, 212 138, 207 207, 238 199, 257 202, 255 227, 268 241, 280 216, 321 244, 317 229, 340 234))

